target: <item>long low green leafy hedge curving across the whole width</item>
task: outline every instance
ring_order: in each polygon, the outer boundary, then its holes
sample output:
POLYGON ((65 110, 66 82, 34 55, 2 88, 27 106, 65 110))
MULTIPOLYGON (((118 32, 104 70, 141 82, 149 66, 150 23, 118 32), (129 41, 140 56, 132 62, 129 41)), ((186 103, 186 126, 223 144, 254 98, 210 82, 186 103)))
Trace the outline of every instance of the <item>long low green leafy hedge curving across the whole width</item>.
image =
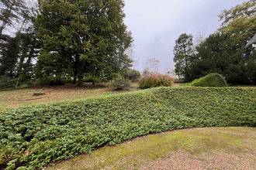
POLYGON ((8 110, 0 164, 42 168, 101 145, 180 128, 256 125, 255 88, 157 87, 8 110))

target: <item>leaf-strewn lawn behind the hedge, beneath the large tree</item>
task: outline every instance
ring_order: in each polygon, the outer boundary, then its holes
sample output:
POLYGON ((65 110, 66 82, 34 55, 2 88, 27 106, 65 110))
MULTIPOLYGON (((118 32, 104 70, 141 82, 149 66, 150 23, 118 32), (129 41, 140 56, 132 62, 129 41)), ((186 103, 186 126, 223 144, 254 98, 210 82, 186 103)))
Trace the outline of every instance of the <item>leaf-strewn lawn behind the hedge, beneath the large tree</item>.
POLYGON ((47 104, 64 100, 79 100, 88 97, 107 96, 113 93, 126 93, 137 89, 136 85, 130 90, 111 90, 104 84, 84 83, 82 87, 65 85, 56 87, 33 87, 16 90, 0 91, 0 110, 24 107, 31 104, 47 104), (43 96, 33 96, 33 93, 45 93, 43 96))

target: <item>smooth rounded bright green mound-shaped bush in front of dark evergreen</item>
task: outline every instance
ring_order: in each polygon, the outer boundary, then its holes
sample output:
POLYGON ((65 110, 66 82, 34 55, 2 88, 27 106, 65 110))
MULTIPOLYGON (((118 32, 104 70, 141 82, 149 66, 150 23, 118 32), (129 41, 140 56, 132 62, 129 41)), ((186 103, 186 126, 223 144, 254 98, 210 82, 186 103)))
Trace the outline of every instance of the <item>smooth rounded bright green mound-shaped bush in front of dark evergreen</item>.
POLYGON ((210 73, 200 79, 195 79, 191 83, 186 83, 184 86, 190 87, 227 87, 227 82, 223 76, 218 73, 210 73))

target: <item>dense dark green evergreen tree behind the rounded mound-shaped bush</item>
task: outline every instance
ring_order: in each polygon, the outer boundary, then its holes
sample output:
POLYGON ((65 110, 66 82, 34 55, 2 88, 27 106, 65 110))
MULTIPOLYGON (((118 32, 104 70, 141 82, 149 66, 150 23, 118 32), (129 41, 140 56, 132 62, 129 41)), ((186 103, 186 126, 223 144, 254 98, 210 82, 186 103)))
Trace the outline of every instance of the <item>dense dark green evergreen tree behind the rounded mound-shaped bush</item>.
POLYGON ((189 68, 192 79, 220 73, 228 83, 256 83, 256 53, 246 51, 244 46, 244 42, 226 33, 210 35, 196 47, 196 59, 189 68))

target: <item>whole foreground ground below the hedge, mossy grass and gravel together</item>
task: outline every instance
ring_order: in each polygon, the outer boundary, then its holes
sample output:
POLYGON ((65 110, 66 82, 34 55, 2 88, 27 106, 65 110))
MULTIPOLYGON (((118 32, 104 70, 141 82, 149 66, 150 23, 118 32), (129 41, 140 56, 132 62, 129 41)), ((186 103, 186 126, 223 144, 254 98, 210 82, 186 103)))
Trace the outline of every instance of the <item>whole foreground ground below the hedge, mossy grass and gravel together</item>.
POLYGON ((165 131, 104 146, 45 169, 252 169, 256 163, 255 130, 218 127, 165 131))

